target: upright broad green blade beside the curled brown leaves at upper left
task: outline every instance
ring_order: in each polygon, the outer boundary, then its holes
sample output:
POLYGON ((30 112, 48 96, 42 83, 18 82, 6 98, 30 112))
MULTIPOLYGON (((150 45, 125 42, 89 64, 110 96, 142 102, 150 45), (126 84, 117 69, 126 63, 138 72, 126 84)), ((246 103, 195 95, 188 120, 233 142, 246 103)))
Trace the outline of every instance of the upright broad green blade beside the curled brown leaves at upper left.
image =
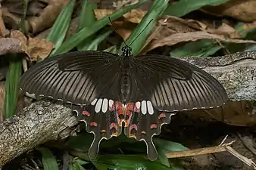
POLYGON ((76 0, 71 0, 64 6, 61 14, 58 15, 55 23, 53 24, 51 32, 46 38, 46 42, 53 42, 55 44, 55 49, 52 51, 50 56, 55 54, 55 51, 61 47, 62 42, 65 39, 67 30, 70 26, 70 20, 72 17, 75 2, 76 0))

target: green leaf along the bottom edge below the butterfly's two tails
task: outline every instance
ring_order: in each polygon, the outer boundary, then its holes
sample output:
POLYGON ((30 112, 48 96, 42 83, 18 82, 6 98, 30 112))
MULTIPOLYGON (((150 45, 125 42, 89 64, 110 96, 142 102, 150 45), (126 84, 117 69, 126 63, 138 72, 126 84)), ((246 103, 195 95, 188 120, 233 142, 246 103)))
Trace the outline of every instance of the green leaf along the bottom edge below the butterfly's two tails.
POLYGON ((169 167, 162 165, 158 160, 150 161, 146 156, 128 156, 128 155, 99 155, 96 161, 92 161, 98 170, 106 168, 118 170, 170 170, 169 167))

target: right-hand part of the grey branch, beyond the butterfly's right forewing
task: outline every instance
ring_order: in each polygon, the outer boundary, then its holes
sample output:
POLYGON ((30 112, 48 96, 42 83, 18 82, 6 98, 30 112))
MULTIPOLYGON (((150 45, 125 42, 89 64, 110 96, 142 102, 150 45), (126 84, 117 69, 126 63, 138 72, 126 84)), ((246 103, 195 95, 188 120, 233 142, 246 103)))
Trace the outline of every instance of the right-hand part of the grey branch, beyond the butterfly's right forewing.
POLYGON ((256 51, 182 60, 214 76, 226 89, 229 100, 256 100, 256 51))

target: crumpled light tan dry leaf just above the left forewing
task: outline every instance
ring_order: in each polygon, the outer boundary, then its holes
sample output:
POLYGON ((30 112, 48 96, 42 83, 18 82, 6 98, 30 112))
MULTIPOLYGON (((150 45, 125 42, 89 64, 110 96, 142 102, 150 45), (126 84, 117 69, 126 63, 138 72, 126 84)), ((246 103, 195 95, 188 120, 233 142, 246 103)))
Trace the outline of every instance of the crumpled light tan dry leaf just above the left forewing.
POLYGON ((18 39, 20 44, 20 51, 28 55, 30 60, 37 60, 38 58, 44 60, 48 54, 51 53, 54 44, 52 42, 45 42, 43 39, 27 39, 22 32, 18 30, 11 31, 11 38, 18 39))

